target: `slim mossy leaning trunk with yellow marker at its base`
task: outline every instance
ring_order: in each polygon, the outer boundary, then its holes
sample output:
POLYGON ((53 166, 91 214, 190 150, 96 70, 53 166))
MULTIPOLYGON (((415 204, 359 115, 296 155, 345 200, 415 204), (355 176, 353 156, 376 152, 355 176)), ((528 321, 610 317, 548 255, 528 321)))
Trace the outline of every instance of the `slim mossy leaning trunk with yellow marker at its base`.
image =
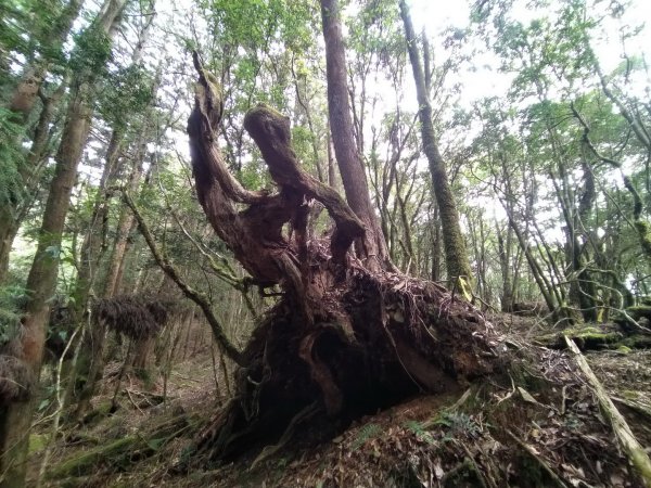
POLYGON ((432 105, 430 104, 427 89, 425 86, 425 75, 418 52, 416 34, 409 15, 409 9, 405 0, 400 0, 400 15, 405 24, 405 35, 407 38, 407 50, 416 81, 416 93, 419 105, 419 119, 421 123, 421 137, 423 151, 430 163, 430 174, 432 176, 432 185, 434 195, 438 204, 441 215, 441 224, 443 228, 443 245, 445 248, 445 261, 448 272, 448 279, 455 280, 464 277, 472 280, 472 271, 465 253, 465 243, 459 224, 459 214, 455 196, 450 188, 445 162, 438 151, 436 136, 434 133, 434 124, 432 121, 432 105))

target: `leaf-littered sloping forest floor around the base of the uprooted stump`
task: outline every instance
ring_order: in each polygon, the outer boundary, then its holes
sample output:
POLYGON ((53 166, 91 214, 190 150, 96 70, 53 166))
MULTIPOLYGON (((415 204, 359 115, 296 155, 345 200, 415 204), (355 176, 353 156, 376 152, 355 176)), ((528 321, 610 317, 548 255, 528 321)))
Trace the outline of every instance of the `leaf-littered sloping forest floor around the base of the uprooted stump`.
MULTIPOLYGON (((283 446, 252 446, 222 463, 191 452, 193 438, 221 404, 216 384, 220 395, 225 389, 204 348, 175 364, 164 403, 162 381, 148 389, 128 377, 114 414, 64 424, 50 445, 41 486, 642 486, 571 355, 532 345, 545 332, 536 319, 492 320, 515 364, 510 375, 407 399, 345 428, 327 419, 311 422, 283 446)), ((585 356, 649 452, 651 350, 585 356)), ((107 373, 117 368, 108 364, 107 373)), ((108 375, 104 386, 94 406, 105 412, 115 380, 108 375)), ((31 486, 48 432, 37 426, 31 436, 31 486)))

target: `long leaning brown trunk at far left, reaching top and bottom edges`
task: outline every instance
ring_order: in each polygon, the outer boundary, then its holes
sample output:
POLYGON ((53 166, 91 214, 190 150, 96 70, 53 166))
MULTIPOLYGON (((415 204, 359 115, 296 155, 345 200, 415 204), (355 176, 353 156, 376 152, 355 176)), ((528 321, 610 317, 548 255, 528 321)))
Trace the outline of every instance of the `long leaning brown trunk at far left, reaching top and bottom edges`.
MULTIPOLYGON (((116 24, 124 0, 108 0, 98 27, 108 34, 116 24)), ((56 288, 59 253, 67 215, 71 193, 77 176, 77 165, 90 131, 92 110, 91 87, 94 74, 81 73, 73 85, 71 102, 56 154, 56 168, 43 213, 38 247, 27 278, 29 299, 25 306, 23 334, 20 341, 22 360, 38 378, 46 342, 50 298, 56 288)), ((1 487, 21 487, 25 484, 26 454, 31 424, 33 400, 10 402, 0 412, 0 473, 4 474, 1 487)))

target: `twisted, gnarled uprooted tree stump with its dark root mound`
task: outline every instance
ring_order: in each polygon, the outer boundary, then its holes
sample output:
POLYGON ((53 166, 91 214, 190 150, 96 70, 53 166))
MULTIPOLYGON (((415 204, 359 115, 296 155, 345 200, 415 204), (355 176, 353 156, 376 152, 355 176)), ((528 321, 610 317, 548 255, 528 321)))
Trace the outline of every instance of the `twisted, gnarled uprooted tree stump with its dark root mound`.
POLYGON ((239 365, 238 390, 201 434, 200 450, 234 454, 252 440, 286 438, 316 412, 350 419, 498 369, 496 335, 459 293, 365 256, 382 236, 299 167, 289 119, 269 106, 252 108, 244 127, 277 191, 238 182, 216 142, 220 89, 196 54, 194 64, 188 133, 199 201, 253 282, 281 291, 243 351, 216 334, 239 365), (315 235, 315 205, 331 218, 326 236, 315 235))

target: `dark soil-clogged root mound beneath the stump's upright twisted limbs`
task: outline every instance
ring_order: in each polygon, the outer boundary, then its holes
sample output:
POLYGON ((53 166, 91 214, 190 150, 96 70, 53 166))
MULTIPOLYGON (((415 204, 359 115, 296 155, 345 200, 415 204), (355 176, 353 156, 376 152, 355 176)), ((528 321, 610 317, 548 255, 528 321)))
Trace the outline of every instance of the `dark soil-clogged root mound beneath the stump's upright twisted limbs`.
POLYGON ((432 283, 363 269, 312 307, 309 331, 288 298, 256 331, 238 372, 238 397, 201 433, 209 458, 276 444, 317 400, 354 419, 421 391, 459 389, 501 363, 492 326, 432 283))

